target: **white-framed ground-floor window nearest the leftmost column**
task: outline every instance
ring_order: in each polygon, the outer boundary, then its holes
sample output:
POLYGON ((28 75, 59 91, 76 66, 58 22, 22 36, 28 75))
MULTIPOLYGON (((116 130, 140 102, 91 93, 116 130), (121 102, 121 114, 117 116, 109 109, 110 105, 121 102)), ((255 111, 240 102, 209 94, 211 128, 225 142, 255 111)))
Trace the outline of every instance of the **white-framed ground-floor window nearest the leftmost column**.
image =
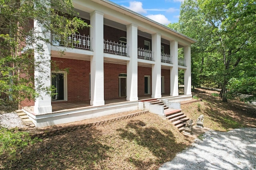
POLYGON ((52 86, 55 87, 52 101, 67 100, 67 73, 65 71, 52 71, 52 86))

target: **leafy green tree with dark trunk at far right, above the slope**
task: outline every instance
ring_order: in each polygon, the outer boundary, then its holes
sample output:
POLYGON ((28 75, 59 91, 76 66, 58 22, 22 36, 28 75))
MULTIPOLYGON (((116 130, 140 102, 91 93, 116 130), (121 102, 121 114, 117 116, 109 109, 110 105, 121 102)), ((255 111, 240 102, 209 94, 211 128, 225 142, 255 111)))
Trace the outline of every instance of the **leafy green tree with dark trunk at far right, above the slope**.
POLYGON ((212 27, 212 46, 224 64, 222 101, 227 102, 227 85, 250 44, 255 40, 256 4, 253 0, 198 0, 205 24, 212 27))

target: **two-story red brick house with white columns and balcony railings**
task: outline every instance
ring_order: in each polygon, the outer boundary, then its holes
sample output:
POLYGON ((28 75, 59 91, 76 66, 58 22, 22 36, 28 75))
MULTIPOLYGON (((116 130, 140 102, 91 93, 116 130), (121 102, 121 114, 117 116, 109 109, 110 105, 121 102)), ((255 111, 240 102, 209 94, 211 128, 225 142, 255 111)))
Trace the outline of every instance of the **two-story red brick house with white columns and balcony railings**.
MULTIPOLYGON (((66 40, 49 33, 52 44, 45 44, 44 57, 69 72, 50 66, 44 68, 47 75, 35 70, 35 77, 43 76, 45 86, 54 85, 58 93, 22 103, 36 127, 135 110, 139 99, 192 98, 193 39, 108 0, 73 3, 79 17, 91 27, 66 40), (183 56, 178 56, 178 48, 184 50, 183 56), (178 93, 179 69, 184 70, 182 95, 178 93)), ((34 21, 34 27, 40 29, 36 24, 34 21)))

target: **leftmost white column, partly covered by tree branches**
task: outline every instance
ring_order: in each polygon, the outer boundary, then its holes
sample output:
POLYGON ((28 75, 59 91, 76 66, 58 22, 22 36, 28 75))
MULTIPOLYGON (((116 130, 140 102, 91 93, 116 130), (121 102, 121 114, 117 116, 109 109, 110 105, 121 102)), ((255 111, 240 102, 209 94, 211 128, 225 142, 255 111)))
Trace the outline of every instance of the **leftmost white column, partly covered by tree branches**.
MULTIPOLYGON (((44 27, 39 25, 37 20, 34 20, 34 29, 36 29, 39 36, 50 39, 51 33, 43 33, 45 32, 44 27)), ((34 69, 34 83, 35 89, 40 94, 40 97, 35 100, 34 113, 40 115, 52 112, 51 96, 46 94, 44 90, 39 90, 39 88, 49 88, 51 86, 51 45, 44 41, 37 41, 36 44, 43 45, 43 51, 38 52, 36 49, 34 50, 35 65, 37 65, 34 69)))

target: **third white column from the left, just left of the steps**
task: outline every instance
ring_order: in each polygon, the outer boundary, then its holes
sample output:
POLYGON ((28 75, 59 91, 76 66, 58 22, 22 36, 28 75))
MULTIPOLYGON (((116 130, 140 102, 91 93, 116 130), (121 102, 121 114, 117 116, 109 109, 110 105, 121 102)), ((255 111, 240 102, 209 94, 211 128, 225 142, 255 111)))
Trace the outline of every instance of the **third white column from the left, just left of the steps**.
POLYGON ((126 26, 127 48, 130 61, 127 61, 127 101, 138 100, 138 27, 130 24, 126 26))

